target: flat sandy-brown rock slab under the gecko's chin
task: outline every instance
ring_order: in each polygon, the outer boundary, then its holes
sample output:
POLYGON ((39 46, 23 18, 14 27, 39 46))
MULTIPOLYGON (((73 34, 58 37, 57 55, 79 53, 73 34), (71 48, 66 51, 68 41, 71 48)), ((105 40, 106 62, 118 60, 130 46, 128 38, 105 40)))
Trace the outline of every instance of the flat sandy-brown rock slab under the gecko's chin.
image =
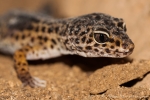
POLYGON ((90 76, 90 93, 97 94, 104 92, 130 80, 143 77, 149 71, 150 61, 106 66, 90 76))

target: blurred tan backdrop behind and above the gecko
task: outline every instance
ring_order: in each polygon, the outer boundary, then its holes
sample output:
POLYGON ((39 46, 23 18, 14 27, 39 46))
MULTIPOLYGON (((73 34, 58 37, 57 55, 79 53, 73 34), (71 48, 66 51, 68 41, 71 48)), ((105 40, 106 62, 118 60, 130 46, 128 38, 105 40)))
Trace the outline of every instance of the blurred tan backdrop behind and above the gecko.
POLYGON ((150 0, 0 0, 0 15, 13 9, 38 11, 50 8, 55 17, 73 17, 102 12, 123 18, 135 43, 133 59, 150 58, 150 0))

